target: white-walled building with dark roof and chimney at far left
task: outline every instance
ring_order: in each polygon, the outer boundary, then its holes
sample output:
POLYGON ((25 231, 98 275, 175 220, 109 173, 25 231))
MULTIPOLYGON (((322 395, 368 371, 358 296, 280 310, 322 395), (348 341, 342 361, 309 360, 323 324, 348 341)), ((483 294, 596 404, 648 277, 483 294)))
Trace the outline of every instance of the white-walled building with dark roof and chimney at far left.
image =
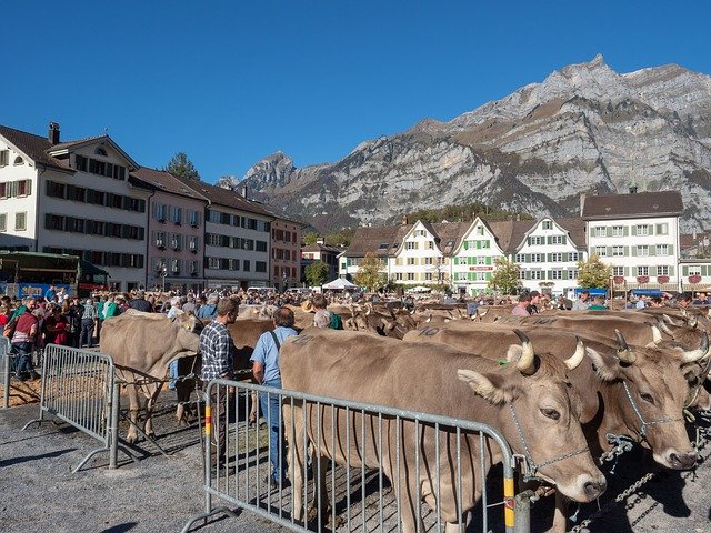
POLYGON ((0 247, 70 253, 109 272, 116 290, 146 280, 149 190, 108 135, 59 142, 0 127, 0 247))

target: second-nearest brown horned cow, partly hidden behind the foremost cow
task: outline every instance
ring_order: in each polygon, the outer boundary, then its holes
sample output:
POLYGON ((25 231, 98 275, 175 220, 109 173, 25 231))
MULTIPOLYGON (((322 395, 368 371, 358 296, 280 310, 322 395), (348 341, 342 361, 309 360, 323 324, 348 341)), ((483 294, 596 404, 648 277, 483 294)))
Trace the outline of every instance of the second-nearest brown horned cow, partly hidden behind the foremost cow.
MULTIPOLYGON (((492 360, 505 355, 505 343, 497 338, 505 326, 450 324, 445 328, 421 328, 410 332, 405 340, 430 342, 483 353, 492 360)), ((695 451, 689 442, 682 410, 688 398, 688 385, 681 368, 708 353, 705 346, 687 352, 679 349, 674 358, 663 356, 651 348, 630 349, 623 340, 615 341, 585 332, 577 334, 560 330, 531 328, 524 330, 531 341, 549 350, 544 356, 561 358, 580 339, 587 346, 590 359, 570 373, 570 380, 582 399, 580 418, 593 456, 609 451, 607 435, 628 435, 644 441, 652 449, 660 464, 675 470, 693 466, 695 451), (643 418, 643 420, 640 419, 643 418)), ((510 332, 513 336, 513 332, 510 332)), ((553 531, 565 531, 564 503, 557 496, 557 513, 553 531)))

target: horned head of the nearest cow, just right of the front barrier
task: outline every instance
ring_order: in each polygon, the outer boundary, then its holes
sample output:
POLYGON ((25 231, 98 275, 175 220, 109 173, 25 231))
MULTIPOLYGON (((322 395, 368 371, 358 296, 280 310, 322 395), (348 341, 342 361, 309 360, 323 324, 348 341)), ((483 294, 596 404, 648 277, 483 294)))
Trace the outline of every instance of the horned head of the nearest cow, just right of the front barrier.
POLYGON ((527 453, 528 446, 531 461, 543 464, 537 475, 575 501, 594 500, 607 482, 588 451, 580 428, 580 398, 567 375, 582 362, 584 346, 579 342, 565 361, 540 358, 523 333, 515 334, 521 344, 509 346, 498 371, 460 369, 458 378, 500 406, 499 429, 517 453, 527 453))

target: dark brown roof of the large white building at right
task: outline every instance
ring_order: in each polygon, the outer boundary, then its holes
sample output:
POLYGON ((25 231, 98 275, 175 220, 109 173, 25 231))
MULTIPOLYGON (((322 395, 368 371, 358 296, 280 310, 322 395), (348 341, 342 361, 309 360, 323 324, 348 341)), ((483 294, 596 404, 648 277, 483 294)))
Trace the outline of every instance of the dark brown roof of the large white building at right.
POLYGON ((583 199, 583 220, 679 215, 683 202, 679 191, 593 195, 583 199))

